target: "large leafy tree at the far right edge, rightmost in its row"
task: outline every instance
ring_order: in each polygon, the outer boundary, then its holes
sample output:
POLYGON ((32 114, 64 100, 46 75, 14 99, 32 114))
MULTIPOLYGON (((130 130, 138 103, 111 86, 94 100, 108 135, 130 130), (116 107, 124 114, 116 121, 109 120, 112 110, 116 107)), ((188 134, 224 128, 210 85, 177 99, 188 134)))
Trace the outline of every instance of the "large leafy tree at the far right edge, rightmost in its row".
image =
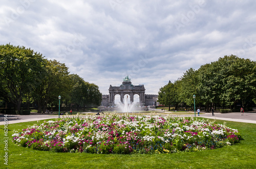
POLYGON ((231 108, 236 107, 238 102, 246 107, 255 98, 255 62, 236 55, 226 55, 217 62, 222 67, 223 91, 220 99, 231 108))

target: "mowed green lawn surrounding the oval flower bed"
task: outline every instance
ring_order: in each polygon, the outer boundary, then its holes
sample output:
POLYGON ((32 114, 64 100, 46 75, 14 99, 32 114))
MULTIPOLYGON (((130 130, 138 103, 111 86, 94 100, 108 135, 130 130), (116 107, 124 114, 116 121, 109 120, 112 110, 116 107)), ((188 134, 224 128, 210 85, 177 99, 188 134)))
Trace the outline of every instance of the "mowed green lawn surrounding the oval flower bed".
POLYGON ((3 138, 6 136, 4 125, 0 125, 0 168, 255 168, 256 124, 225 122, 226 126, 240 131, 244 139, 241 143, 200 152, 132 155, 54 153, 18 147, 12 143, 13 130, 21 130, 37 122, 9 124, 8 166, 3 161, 3 138))

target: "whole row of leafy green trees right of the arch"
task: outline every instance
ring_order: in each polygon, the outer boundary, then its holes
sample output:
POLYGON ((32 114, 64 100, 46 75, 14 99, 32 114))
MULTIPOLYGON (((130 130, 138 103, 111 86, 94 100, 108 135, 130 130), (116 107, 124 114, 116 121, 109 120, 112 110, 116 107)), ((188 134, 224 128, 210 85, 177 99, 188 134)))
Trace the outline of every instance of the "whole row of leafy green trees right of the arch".
POLYGON ((196 95, 197 106, 236 108, 255 105, 256 63, 236 55, 225 55, 216 62, 202 65, 198 70, 188 69, 174 85, 166 85, 159 91, 159 101, 165 105, 169 97, 178 97, 179 104, 193 106, 196 95), (168 87, 167 87, 168 86, 168 87), (170 89, 171 88, 171 89, 170 89), (169 91, 169 93, 165 91, 169 91), (177 93, 178 91, 178 93, 177 93), (163 97, 168 94, 169 97, 163 97))

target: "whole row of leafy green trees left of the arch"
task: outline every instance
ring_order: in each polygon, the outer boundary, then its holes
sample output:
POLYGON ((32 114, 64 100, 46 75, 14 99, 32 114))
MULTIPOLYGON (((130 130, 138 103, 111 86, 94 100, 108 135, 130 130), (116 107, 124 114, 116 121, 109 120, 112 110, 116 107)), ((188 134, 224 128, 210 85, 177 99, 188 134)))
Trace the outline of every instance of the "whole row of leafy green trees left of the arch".
POLYGON ((0 100, 16 110, 25 101, 37 104, 38 112, 48 104, 57 105, 58 96, 66 104, 97 106, 101 103, 98 86, 72 75, 65 64, 47 60, 24 46, 0 46, 0 100))

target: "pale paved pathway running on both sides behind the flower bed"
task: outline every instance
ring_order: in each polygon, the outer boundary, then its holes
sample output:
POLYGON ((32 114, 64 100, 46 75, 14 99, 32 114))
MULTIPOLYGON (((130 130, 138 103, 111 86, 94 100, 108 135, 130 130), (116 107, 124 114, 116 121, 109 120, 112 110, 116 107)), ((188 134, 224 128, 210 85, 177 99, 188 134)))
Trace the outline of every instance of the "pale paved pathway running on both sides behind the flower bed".
MULTIPOLYGON (((174 117, 176 116, 190 117, 194 115, 173 115, 173 116, 174 117)), ((244 116, 241 116, 240 112, 230 112, 228 114, 215 113, 215 116, 212 116, 211 113, 206 113, 206 114, 200 114, 200 117, 208 118, 208 119, 256 124, 256 112, 245 112, 244 116)), ((38 121, 38 120, 53 119, 53 118, 58 118, 57 114, 55 115, 45 115, 45 114, 7 115, 8 124, 31 122, 31 121, 38 121)), ((0 114, 0 125, 4 125, 4 120, 5 120, 4 114, 0 114)))

